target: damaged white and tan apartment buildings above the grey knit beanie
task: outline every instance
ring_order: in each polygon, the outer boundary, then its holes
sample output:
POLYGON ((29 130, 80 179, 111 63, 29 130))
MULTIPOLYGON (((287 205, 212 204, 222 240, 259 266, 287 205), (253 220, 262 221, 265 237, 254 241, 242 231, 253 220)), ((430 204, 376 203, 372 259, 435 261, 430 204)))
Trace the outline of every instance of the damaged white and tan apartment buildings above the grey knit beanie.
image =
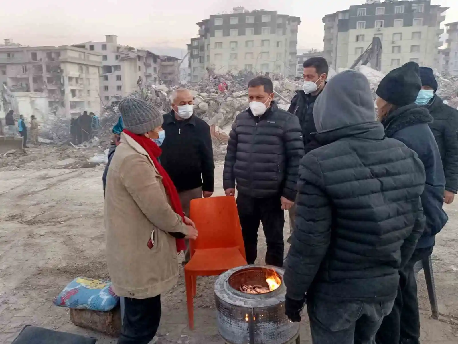
POLYGON ((102 55, 100 99, 103 105, 131 94, 139 84, 178 85, 180 82, 180 59, 120 45, 116 35, 105 35, 104 42, 74 46, 102 55))

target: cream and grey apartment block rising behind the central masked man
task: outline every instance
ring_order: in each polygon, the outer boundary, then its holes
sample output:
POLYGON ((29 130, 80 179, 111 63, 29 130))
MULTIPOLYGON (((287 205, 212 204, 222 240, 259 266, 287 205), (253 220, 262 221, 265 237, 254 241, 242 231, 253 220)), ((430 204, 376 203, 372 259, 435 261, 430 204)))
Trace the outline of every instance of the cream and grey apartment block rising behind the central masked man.
POLYGON ((210 16, 197 23, 199 37, 188 44, 191 81, 200 80, 207 69, 295 75, 299 24, 299 17, 243 7, 210 16))

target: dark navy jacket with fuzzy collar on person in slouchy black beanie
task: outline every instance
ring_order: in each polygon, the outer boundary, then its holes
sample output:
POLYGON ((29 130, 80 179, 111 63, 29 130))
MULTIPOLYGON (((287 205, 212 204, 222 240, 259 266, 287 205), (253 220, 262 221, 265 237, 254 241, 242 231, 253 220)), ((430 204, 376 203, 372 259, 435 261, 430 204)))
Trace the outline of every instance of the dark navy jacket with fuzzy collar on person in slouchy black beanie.
POLYGON ((426 225, 417 248, 434 246, 436 234, 442 230, 448 220, 447 214, 442 210, 445 189, 444 169, 436 140, 428 126, 432 120, 428 110, 416 104, 398 108, 382 120, 387 137, 397 139, 414 150, 425 166, 426 182, 421 203, 426 225))

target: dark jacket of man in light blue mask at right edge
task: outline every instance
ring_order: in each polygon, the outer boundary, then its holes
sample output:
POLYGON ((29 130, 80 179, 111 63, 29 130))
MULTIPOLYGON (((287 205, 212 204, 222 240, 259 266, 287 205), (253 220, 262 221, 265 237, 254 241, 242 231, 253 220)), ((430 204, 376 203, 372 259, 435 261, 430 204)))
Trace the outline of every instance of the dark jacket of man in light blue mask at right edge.
POLYGON ((434 121, 430 128, 436 139, 441 154, 445 173, 445 189, 458 192, 458 110, 442 102, 435 96, 431 105, 427 106, 434 121))

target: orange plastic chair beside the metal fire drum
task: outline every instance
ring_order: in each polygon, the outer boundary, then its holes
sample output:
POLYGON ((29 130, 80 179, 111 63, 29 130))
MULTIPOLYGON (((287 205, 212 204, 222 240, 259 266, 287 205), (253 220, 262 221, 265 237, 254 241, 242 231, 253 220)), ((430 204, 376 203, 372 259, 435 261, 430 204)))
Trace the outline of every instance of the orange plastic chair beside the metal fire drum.
POLYGON ((217 276, 246 265, 245 246, 234 197, 191 200, 190 218, 199 236, 191 240, 191 259, 185 265, 189 328, 194 329, 197 276, 217 276))

